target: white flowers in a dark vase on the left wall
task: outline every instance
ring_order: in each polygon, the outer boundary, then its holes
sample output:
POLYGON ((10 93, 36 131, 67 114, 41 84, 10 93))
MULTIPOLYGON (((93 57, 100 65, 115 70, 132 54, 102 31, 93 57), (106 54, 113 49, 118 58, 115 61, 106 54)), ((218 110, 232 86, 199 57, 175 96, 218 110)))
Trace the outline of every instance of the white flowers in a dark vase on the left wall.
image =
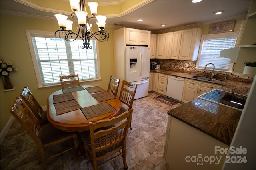
POLYGON ((5 80, 4 88, 5 89, 12 89, 13 85, 12 85, 10 79, 9 79, 9 74, 11 72, 17 72, 17 71, 19 71, 19 69, 14 67, 12 62, 6 61, 6 60, 3 60, 3 59, 1 59, 0 65, 1 65, 0 74, 4 77, 4 80, 5 80))

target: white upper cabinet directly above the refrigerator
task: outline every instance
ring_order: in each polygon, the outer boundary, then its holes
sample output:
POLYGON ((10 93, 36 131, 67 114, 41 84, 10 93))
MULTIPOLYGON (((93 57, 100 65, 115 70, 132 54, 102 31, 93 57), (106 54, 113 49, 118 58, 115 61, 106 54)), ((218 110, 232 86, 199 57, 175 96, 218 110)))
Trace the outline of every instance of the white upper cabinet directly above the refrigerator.
POLYGON ((150 31, 126 28, 126 44, 150 45, 150 31))

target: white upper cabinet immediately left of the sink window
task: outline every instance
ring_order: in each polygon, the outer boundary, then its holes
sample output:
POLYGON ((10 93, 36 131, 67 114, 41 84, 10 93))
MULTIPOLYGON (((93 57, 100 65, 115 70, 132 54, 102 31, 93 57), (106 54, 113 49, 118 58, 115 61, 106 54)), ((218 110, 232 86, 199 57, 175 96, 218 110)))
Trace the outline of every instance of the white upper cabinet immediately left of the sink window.
POLYGON ((201 28, 182 30, 179 53, 180 60, 197 60, 201 36, 201 28))

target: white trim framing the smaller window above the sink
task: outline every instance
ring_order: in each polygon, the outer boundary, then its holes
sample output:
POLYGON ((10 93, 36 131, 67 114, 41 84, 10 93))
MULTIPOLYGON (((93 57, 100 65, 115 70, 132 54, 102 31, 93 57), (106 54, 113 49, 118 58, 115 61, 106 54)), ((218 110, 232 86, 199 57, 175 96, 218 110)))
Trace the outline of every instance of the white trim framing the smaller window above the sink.
MULTIPOLYGON (((199 68, 198 65, 199 65, 199 60, 200 60, 200 57, 201 57, 201 51, 202 51, 202 44, 203 44, 203 41, 205 39, 218 39, 218 38, 230 38, 230 37, 234 37, 236 36, 238 38, 238 31, 236 32, 225 32, 225 33, 218 33, 218 34, 206 34, 206 35, 202 35, 201 37, 201 41, 200 41, 200 47, 199 47, 199 52, 198 52, 198 59, 197 59, 197 62, 196 62, 196 71, 206 71, 206 72, 212 72, 212 69, 204 69, 204 68, 199 68)), ((238 43, 238 41, 236 40, 236 43, 238 43)), ((230 63, 230 68, 228 71, 226 71, 228 74, 231 74, 232 71, 233 71, 233 66, 234 66, 234 61, 232 60, 231 63, 230 63)), ((214 71, 218 71, 219 73, 222 73, 224 72, 223 70, 218 70, 218 69, 215 69, 214 71)))

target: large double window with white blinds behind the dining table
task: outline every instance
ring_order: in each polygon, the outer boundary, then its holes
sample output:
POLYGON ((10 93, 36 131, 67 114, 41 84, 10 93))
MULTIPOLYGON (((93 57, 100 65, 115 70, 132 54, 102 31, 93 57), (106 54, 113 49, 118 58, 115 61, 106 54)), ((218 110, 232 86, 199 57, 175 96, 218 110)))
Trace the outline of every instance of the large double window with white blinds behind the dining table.
POLYGON ((39 87, 59 84, 59 75, 78 74, 80 81, 99 78, 96 40, 90 41, 92 49, 81 49, 82 40, 70 42, 53 35, 30 34, 39 87))

